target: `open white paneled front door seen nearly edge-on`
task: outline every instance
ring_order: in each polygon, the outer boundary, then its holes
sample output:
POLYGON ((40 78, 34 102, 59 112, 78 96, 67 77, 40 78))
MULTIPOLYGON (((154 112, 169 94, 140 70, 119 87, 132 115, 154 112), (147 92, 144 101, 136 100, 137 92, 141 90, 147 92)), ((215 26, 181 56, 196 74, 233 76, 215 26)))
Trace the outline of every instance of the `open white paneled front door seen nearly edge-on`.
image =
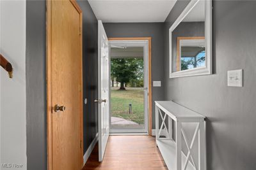
POLYGON ((101 20, 98 22, 98 89, 99 89, 99 161, 104 157, 104 152, 109 136, 109 53, 108 37, 101 20))

